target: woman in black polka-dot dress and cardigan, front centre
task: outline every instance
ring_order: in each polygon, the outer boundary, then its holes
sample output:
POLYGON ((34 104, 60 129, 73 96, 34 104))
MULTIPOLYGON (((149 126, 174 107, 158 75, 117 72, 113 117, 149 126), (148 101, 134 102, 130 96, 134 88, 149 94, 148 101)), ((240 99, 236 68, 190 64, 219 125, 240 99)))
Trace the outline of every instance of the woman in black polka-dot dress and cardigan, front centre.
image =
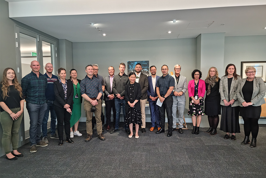
POLYGON ((142 125, 141 121, 141 85, 135 82, 136 74, 129 74, 130 83, 125 86, 125 121, 126 127, 129 127, 129 138, 133 136, 133 124, 136 126, 135 138, 139 138, 138 130, 142 125))

